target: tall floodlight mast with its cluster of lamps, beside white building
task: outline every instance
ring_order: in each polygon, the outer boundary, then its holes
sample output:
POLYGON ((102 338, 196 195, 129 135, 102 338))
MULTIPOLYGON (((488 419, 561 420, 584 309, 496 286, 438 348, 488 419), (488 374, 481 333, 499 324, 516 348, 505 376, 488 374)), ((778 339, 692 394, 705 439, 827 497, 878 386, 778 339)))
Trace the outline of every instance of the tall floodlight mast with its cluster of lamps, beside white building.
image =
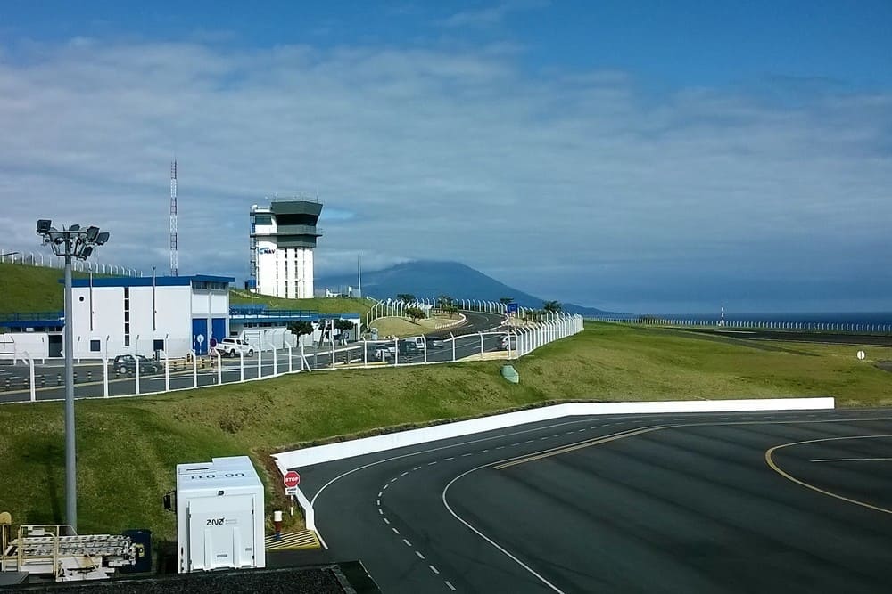
POLYGON ((78 530, 78 484, 75 470, 74 449, 74 360, 71 346, 74 342, 71 296, 71 258, 86 260, 93 255, 96 246, 109 240, 107 232, 99 232, 99 227, 82 229, 72 224, 59 231, 49 219, 37 221, 37 235, 43 237, 44 245, 53 248, 56 256, 65 257, 65 521, 78 530))

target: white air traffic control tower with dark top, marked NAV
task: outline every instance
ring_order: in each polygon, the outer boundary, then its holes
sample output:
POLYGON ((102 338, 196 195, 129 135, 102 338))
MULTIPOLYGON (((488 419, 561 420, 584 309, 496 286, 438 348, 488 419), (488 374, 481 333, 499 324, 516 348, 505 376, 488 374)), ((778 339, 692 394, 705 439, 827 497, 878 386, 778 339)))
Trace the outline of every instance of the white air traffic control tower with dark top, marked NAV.
POLYGON ((273 297, 313 297, 313 248, 322 236, 316 228, 321 212, 320 202, 303 199, 251 207, 249 289, 273 297))

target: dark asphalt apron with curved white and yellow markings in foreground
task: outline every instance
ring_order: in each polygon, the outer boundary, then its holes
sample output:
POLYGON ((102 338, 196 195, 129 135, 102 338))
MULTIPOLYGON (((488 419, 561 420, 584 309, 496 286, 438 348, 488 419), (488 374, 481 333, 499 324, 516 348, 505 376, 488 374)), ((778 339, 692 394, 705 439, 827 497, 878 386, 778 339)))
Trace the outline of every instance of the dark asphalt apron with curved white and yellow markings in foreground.
POLYGON ((298 470, 327 556, 384 592, 880 592, 890 457, 892 411, 805 411, 557 419, 298 470))

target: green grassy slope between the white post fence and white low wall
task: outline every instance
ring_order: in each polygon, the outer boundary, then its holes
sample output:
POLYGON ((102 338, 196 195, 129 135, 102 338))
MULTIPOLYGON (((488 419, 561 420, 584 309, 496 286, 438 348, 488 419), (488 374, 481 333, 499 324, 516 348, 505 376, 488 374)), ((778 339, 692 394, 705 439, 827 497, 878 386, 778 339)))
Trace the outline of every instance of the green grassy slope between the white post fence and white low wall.
MULTIPOLYGON (((516 362, 305 373, 139 399, 80 401, 82 532, 149 527, 173 538, 161 495, 178 462, 266 453, 378 427, 481 415, 556 399, 831 395, 839 405, 892 404, 892 376, 858 362, 856 347, 790 345, 789 351, 721 344, 670 332, 592 324, 516 362)), ((871 360, 892 349, 870 347, 871 360)), ((62 404, 0 406, 0 510, 16 522, 58 521, 64 509, 62 404)), ((275 481, 277 484, 277 481, 275 481)), ((271 506, 272 503, 269 503, 271 506)))

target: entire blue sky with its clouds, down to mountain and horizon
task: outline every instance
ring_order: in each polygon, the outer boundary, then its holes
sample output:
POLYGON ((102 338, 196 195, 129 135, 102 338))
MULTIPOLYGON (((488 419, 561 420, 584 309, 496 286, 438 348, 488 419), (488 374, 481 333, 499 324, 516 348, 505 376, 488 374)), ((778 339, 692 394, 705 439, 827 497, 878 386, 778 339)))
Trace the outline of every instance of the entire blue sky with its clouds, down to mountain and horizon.
POLYGON ((892 3, 0 3, 0 250, 249 273, 454 260, 633 313, 892 311, 892 3))

